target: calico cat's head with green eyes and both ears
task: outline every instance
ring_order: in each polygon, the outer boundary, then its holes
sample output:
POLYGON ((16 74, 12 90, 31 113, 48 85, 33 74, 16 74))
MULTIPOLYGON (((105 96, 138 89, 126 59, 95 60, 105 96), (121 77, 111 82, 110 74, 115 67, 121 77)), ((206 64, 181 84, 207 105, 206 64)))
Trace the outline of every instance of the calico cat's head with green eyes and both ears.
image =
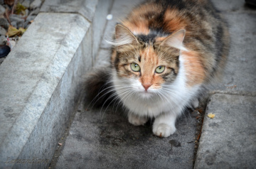
POLYGON ((136 92, 154 93, 176 80, 185 30, 169 36, 134 35, 122 24, 115 27, 112 65, 119 80, 136 92))

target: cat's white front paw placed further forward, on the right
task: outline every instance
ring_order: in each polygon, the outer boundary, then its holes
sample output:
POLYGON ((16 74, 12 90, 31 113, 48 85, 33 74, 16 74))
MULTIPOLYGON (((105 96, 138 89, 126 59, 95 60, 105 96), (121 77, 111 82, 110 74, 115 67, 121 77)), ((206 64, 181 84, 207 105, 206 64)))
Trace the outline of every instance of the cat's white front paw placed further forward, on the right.
POLYGON ((153 126, 153 133, 159 137, 169 137, 175 131, 175 126, 169 126, 168 124, 156 124, 153 126))

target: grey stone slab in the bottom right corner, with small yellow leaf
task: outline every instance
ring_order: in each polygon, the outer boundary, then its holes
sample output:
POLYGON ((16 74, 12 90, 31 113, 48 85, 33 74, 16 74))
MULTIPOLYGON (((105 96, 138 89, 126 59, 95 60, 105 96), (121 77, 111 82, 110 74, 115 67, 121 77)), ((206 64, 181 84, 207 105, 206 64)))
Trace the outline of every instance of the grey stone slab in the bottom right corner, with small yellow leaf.
POLYGON ((256 97, 210 97, 196 157, 199 168, 255 168, 256 97), (215 114, 213 119, 207 114, 215 114))

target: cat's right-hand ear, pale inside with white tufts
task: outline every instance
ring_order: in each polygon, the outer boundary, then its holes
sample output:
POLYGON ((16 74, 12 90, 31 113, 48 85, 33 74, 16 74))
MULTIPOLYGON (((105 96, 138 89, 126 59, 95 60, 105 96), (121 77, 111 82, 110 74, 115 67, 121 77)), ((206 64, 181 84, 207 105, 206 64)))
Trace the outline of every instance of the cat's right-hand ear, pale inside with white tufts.
POLYGON ((178 48, 179 50, 186 50, 183 46, 183 40, 185 37, 186 31, 184 29, 178 30, 171 34, 171 36, 168 36, 160 45, 164 46, 170 46, 174 48, 178 48))

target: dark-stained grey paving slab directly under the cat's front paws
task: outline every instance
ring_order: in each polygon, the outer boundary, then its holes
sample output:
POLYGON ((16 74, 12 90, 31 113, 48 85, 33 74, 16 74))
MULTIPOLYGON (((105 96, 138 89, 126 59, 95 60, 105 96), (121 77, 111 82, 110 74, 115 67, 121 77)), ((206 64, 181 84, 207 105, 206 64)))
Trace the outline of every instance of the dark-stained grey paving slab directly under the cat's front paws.
POLYGON ((133 126, 124 114, 81 104, 55 168, 193 168, 195 118, 183 116, 174 135, 159 138, 150 121, 133 126))

